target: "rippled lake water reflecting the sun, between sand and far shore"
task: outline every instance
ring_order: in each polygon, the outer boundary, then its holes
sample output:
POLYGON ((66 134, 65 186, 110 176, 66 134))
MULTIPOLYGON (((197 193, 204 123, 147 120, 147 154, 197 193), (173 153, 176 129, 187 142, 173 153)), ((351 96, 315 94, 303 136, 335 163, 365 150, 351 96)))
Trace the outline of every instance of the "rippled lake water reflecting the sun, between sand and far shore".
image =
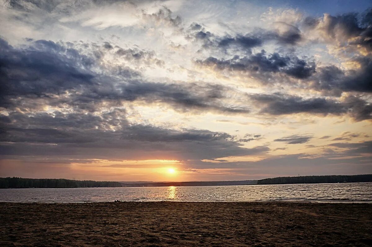
POLYGON ((372 183, 0 189, 0 201, 3 202, 106 202, 114 200, 372 202, 372 183))

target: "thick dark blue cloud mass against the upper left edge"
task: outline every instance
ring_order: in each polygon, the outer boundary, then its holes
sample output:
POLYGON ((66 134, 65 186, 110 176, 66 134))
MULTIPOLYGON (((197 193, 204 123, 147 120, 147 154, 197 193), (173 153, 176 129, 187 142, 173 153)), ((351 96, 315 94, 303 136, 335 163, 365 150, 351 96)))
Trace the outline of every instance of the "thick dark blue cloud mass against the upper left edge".
POLYGON ((29 48, 13 48, 0 38, 1 106, 7 97, 60 94, 72 88, 93 85, 94 60, 76 49, 47 40, 37 40, 29 48))

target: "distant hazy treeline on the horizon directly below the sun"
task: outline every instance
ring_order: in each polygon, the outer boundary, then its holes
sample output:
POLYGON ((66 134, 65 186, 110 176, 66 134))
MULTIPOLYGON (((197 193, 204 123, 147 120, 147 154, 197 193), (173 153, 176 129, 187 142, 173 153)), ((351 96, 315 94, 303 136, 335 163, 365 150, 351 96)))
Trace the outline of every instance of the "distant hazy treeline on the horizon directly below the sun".
POLYGON ((254 184, 257 184, 257 180, 122 183, 123 187, 218 186, 218 185, 254 185, 254 184))

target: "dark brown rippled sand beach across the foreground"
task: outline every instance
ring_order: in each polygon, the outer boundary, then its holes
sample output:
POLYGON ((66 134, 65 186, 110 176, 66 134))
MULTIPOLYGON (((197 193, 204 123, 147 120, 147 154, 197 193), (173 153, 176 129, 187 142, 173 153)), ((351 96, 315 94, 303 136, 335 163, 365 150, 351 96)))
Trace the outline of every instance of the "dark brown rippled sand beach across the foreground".
POLYGON ((0 203, 1 246, 371 246, 372 204, 0 203))

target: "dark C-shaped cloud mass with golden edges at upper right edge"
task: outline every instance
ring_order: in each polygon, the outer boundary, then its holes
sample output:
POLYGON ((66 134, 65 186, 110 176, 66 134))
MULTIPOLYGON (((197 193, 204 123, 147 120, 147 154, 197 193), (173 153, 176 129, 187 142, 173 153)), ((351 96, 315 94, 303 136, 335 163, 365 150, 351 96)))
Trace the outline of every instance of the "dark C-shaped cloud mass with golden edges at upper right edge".
POLYGON ((305 27, 314 30, 325 41, 355 53, 352 61, 359 64, 359 68, 349 70, 334 65, 320 67, 311 80, 311 88, 336 96, 350 91, 372 92, 371 16, 372 9, 368 9, 361 14, 324 14, 322 18, 307 17, 304 20, 305 27))

